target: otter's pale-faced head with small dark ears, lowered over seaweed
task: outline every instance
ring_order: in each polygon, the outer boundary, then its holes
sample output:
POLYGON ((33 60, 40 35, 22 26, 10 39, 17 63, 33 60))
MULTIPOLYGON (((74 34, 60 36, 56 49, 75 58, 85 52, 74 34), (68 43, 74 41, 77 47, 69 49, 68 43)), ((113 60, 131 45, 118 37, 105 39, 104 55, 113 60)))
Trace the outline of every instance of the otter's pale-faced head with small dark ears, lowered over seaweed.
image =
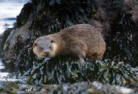
POLYGON ((48 36, 39 37, 34 41, 33 52, 39 59, 55 57, 57 50, 56 40, 48 36))

